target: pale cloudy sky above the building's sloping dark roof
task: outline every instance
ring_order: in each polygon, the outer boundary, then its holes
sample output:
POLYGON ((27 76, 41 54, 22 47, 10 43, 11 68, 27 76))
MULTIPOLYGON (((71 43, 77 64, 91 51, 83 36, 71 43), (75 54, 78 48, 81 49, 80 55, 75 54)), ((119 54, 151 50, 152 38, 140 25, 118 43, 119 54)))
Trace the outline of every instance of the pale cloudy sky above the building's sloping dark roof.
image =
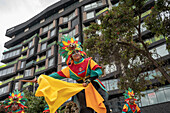
MULTIPOLYGON (((48 6, 60 0, 0 0, 0 60, 5 42, 6 30, 34 17, 48 6)), ((3 65, 3 63, 0 63, 3 65)))

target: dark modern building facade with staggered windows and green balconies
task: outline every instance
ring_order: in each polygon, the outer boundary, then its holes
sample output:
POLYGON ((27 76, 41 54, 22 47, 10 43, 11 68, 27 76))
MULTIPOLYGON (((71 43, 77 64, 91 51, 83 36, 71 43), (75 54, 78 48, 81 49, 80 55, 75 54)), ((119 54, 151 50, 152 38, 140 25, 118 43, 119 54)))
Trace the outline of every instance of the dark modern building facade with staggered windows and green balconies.
MULTIPOLYGON (((116 7, 119 0, 111 0, 112 6, 116 7)), ((154 0, 148 0, 147 10, 143 12, 142 18, 150 13, 154 0)), ((83 43, 83 30, 91 22, 100 21, 99 15, 104 14, 109 8, 108 0, 61 0, 28 21, 14 26, 6 31, 6 36, 11 40, 5 43, 7 50, 3 52, 0 66, 0 100, 8 97, 9 93, 15 89, 23 90, 28 88, 35 90, 31 83, 23 83, 21 79, 33 79, 40 74, 49 75, 63 69, 65 59, 58 54, 57 42, 62 35, 74 36, 76 40, 83 43)), ((142 28, 143 35, 150 32, 142 28)), ((166 50, 166 39, 163 36, 154 35, 147 38, 151 44, 149 49, 156 49, 158 54, 169 62, 169 51, 166 50)), ((157 57, 155 56, 155 59, 157 57)), ((169 63, 168 63, 169 64, 169 63)), ((158 70, 154 74, 160 74, 158 70)), ((118 75, 119 68, 116 65, 111 67, 106 65, 105 75, 102 83, 109 91, 109 103, 113 113, 121 112, 124 104, 123 91, 119 90, 118 75)), ((148 78, 154 79, 154 78, 148 78)), ((75 82, 71 79, 64 79, 68 82, 75 82)), ((138 103, 139 106, 150 113, 148 108, 159 108, 158 106, 170 105, 170 85, 161 86, 157 91, 147 90, 143 92, 145 97, 138 103)), ((168 108, 167 108, 168 109, 168 108)), ((153 112, 156 113, 156 112, 153 112)))

